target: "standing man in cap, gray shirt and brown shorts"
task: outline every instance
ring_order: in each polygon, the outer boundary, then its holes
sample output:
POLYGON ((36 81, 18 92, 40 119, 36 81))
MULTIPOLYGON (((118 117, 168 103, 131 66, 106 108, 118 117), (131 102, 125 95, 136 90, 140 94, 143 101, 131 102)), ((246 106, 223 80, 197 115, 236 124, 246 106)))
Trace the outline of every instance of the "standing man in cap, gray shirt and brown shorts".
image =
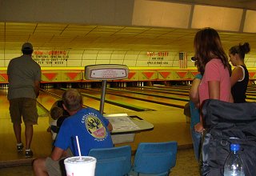
POLYGON ((22 56, 13 58, 7 68, 9 89, 7 98, 10 102, 10 118, 14 126, 17 150, 23 150, 21 131, 22 120, 25 124, 26 157, 32 157, 30 144, 33 137, 33 125, 38 124, 37 101, 41 67, 32 59, 33 46, 30 42, 22 45, 22 56))

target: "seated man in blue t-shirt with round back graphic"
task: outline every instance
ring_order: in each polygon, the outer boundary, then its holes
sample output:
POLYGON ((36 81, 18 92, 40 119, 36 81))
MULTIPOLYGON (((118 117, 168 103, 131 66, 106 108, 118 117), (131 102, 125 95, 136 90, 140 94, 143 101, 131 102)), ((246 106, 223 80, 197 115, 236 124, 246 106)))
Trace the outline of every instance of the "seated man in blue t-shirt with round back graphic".
POLYGON ((82 95, 78 90, 66 90, 62 101, 70 117, 60 127, 51 156, 34 160, 35 175, 62 175, 65 172, 63 159, 79 155, 76 136, 83 156, 88 155, 93 148, 114 146, 110 136, 113 126, 98 110, 82 108, 82 95), (68 149, 72 154, 67 154, 68 149))

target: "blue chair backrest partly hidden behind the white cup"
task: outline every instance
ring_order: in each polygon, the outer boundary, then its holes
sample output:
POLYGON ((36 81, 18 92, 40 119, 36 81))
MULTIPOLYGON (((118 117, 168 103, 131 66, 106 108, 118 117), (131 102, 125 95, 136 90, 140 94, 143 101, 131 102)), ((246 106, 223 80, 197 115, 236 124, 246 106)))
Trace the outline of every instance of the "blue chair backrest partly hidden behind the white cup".
POLYGON ((130 172, 130 146, 91 149, 88 155, 97 159, 95 176, 122 176, 130 172))

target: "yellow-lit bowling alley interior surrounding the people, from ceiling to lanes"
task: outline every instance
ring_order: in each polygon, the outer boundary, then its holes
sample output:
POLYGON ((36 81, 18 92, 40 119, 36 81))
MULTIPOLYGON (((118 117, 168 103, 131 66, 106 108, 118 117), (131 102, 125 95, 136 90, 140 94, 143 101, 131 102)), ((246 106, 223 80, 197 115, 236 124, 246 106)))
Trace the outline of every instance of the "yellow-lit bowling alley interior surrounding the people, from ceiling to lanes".
POLYGON ((115 120, 114 146, 131 146, 134 158, 142 142, 178 142, 170 175, 200 175, 184 110, 198 74, 194 35, 214 28, 226 54, 250 44, 246 101, 255 102, 255 21, 250 0, 0 1, 0 175, 34 175, 34 158, 50 156, 50 108, 70 88, 82 94, 84 107, 115 120), (7 99, 6 70, 24 42, 42 69, 33 158, 16 150, 7 99))

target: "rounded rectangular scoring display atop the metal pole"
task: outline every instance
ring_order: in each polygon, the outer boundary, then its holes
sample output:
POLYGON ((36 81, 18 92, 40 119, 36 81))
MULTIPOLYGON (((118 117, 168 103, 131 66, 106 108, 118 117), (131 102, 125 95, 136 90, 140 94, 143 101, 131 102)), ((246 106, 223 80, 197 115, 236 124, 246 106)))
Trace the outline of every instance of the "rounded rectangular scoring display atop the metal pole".
POLYGON ((98 64, 85 67, 88 80, 116 80, 128 78, 128 67, 119 64, 98 64))

